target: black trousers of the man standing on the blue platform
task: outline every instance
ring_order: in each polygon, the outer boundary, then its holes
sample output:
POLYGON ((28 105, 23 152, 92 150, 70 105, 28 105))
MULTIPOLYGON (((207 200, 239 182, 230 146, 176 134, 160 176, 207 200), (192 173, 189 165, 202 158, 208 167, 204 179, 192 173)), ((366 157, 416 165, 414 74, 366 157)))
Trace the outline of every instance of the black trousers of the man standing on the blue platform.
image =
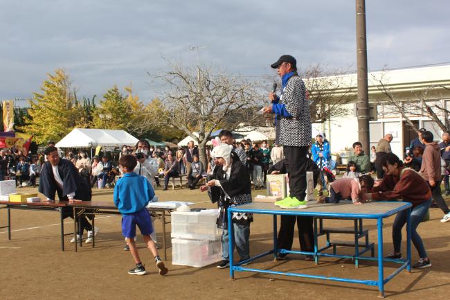
POLYGON ((305 200, 306 196, 306 169, 308 146, 283 146, 285 154, 285 167, 289 177, 289 194, 298 200, 305 200))

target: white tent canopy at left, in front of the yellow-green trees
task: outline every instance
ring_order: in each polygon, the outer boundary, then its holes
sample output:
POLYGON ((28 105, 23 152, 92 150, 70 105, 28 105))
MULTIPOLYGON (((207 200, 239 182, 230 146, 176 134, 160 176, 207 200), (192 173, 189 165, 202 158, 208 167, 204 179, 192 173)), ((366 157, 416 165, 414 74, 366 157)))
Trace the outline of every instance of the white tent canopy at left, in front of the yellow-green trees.
POLYGON ((98 145, 120 147, 135 145, 137 142, 138 139, 124 130, 74 128, 55 146, 57 148, 95 148, 98 145))

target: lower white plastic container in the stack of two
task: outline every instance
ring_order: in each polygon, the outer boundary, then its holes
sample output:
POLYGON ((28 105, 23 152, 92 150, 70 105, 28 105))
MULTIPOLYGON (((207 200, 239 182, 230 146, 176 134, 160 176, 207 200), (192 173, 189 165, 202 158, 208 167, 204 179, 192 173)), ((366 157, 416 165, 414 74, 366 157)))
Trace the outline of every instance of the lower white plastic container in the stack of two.
POLYGON ((204 267, 222 260, 222 242, 172 238, 172 265, 204 267))

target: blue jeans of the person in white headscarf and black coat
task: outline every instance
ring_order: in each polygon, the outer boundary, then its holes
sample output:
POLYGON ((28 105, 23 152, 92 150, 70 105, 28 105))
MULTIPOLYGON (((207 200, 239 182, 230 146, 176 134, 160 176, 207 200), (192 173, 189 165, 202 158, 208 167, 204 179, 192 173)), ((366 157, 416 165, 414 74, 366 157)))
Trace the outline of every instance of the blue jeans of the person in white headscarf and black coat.
MULTIPOLYGON (((237 254, 239 254, 241 260, 250 258, 250 224, 235 224, 233 223, 233 229, 235 233, 235 238, 233 242, 233 249, 237 249, 237 254)), ((230 260, 230 253, 228 249, 228 224, 224 226, 224 231, 222 231, 222 259, 224 261, 230 260)))

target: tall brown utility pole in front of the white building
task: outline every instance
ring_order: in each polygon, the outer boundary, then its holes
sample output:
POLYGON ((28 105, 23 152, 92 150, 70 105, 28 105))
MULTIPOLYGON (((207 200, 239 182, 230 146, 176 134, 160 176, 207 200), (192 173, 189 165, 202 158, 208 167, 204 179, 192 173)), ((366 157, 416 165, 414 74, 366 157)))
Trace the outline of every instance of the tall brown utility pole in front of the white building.
POLYGON ((358 78, 358 139, 366 155, 370 155, 369 93, 367 83, 366 0, 356 0, 357 5, 357 78, 358 78))

